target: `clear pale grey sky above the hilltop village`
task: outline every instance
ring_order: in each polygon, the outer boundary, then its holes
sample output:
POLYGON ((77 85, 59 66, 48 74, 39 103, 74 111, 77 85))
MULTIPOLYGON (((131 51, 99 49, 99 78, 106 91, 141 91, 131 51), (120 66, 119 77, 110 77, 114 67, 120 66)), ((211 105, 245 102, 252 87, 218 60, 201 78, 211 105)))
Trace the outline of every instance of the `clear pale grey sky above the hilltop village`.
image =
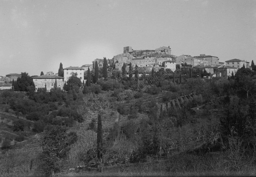
POLYGON ((256 0, 0 0, 0 76, 170 46, 256 63, 256 0))

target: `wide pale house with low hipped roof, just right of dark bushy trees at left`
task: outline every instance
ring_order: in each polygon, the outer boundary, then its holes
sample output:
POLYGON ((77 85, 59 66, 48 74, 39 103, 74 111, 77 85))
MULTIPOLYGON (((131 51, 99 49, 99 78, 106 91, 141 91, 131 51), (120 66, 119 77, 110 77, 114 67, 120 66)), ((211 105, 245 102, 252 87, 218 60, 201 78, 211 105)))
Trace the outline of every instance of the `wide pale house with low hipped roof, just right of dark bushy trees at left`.
POLYGON ((46 88, 47 91, 50 91, 55 87, 63 89, 64 77, 56 76, 53 72, 47 72, 45 75, 33 77, 33 82, 36 91, 39 88, 46 88))

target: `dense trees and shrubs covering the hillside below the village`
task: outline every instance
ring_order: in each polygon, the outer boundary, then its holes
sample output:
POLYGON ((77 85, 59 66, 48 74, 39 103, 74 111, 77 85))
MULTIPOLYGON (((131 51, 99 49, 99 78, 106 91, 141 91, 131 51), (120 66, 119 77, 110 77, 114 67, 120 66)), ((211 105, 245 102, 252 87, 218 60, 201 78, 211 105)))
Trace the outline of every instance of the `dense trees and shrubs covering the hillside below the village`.
MULTIPOLYGON (((34 122, 34 132, 46 132, 39 155, 44 165, 38 171, 51 175, 85 165, 104 172, 109 165, 159 159, 167 160, 164 168, 168 173, 218 169, 223 174, 240 174, 255 167, 256 71, 243 67, 228 79, 205 79, 208 73, 183 67, 175 73, 152 70, 141 76, 138 69, 130 68, 128 77, 124 70, 95 68, 99 71, 88 70, 86 78, 92 79, 85 85, 72 76, 67 91, 27 89, 25 96, 1 92, 6 112, 12 109, 17 116, 25 115, 34 122), (142 89, 138 83, 146 87, 142 89), (120 93, 127 94, 124 100, 120 93), (193 98, 185 100, 181 108, 159 107, 190 93, 193 98), (153 99, 154 95, 161 99, 153 99), (107 112, 110 117, 118 112, 126 120, 105 128, 102 119, 107 112), (98 118, 90 119, 94 114, 98 118), (85 120, 90 120, 87 130, 68 133, 74 122, 85 120), (218 168, 214 165, 217 159, 222 163, 218 168)), ((25 131, 25 127, 22 120, 13 122, 15 132, 25 131)), ((10 148, 9 140, 1 139, 2 147, 10 148)))

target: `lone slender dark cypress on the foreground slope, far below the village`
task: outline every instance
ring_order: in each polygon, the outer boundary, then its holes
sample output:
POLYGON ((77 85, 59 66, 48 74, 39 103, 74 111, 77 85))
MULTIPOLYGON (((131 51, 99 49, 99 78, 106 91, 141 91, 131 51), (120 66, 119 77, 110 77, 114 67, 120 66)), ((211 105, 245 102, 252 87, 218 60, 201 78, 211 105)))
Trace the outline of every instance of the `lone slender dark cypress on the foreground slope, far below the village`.
POLYGON ((100 160, 102 158, 102 144, 103 144, 103 132, 102 132, 102 119, 98 114, 98 126, 97 126, 97 157, 100 160))

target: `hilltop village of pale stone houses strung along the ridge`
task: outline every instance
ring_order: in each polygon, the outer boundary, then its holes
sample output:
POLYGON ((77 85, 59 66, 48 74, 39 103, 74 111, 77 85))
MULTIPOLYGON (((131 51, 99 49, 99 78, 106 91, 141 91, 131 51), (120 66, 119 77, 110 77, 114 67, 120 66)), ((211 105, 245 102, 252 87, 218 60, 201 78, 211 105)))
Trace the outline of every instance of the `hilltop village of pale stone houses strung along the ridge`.
MULTIPOLYGON (((92 64, 84 64, 81 67, 70 66, 64 68, 64 77, 60 77, 58 73, 54 74, 53 72, 47 72, 45 75, 33 77, 36 90, 38 88, 46 88, 49 91, 55 87, 63 89, 64 83, 69 80, 69 77, 73 73, 77 73, 76 77, 83 82, 85 72, 88 68, 93 70, 96 61, 98 67, 102 68, 104 59, 95 59, 92 61, 92 64)), ((155 71, 161 68, 175 71, 177 65, 180 65, 182 67, 191 67, 192 69, 207 71, 207 73, 210 73, 210 78, 228 78, 232 73, 235 75, 237 70, 243 66, 250 68, 250 63, 241 59, 230 59, 225 62, 220 62, 218 57, 205 54, 194 57, 190 55, 177 57, 171 54, 170 46, 163 46, 155 50, 133 50, 131 46, 124 47, 122 54, 108 59, 107 62, 112 69, 116 70, 122 70, 122 67, 125 65, 127 74, 129 72, 129 65, 132 66, 132 69, 135 69, 137 65, 139 72, 150 72, 152 68, 155 71)), ((16 81, 20 76, 21 74, 8 74, 6 77, 0 76, 0 89, 11 89, 11 84, 6 83, 10 83, 12 80, 16 81)))

